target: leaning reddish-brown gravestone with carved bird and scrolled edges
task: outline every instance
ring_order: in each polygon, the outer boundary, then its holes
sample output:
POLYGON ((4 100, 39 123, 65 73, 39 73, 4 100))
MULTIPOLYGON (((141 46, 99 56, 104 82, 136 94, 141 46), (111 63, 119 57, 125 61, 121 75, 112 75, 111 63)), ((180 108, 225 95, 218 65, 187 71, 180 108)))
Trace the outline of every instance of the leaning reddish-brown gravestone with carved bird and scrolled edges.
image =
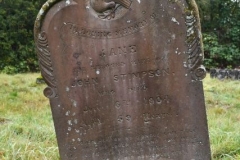
POLYGON ((194 0, 49 0, 35 42, 61 159, 210 159, 194 0))

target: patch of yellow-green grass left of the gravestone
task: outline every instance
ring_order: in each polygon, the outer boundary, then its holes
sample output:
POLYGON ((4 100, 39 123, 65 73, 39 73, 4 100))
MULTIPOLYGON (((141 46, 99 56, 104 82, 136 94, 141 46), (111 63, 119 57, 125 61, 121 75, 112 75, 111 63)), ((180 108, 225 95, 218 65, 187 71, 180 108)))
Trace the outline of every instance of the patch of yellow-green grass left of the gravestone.
POLYGON ((58 148, 39 74, 0 75, 0 159, 54 160, 58 148))

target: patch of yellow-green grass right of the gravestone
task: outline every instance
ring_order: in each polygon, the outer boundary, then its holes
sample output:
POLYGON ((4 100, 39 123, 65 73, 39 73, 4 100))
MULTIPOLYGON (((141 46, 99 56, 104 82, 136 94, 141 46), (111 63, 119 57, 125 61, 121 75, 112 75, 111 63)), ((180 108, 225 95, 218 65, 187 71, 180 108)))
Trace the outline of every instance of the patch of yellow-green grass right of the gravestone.
POLYGON ((212 156, 240 160, 240 81, 204 80, 212 156))

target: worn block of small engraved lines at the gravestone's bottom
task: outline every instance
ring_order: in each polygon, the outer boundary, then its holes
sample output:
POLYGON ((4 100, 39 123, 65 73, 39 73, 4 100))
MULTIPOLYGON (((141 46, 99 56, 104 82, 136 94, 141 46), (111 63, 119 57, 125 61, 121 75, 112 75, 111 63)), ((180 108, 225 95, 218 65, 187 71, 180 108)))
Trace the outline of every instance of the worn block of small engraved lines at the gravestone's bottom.
MULTIPOLYGON (((128 119, 128 116, 120 115, 118 117, 119 123, 128 119)), ((142 133, 136 135, 127 134, 122 136, 109 136, 93 141, 81 141, 80 146, 84 146, 84 153, 89 152, 87 148, 95 148, 94 153, 86 154, 83 159, 91 159, 103 157, 109 159, 115 155, 119 160, 135 160, 137 159, 177 159, 182 154, 187 154, 187 148, 184 147, 184 143, 187 143, 188 147, 203 146, 203 142, 196 136, 196 132, 190 129, 175 130, 175 129, 163 129, 159 130, 159 133, 142 133), (185 136, 188 135, 188 136, 185 136), (160 139, 164 139, 164 145, 159 143, 160 139), (177 142, 182 143, 177 143, 177 142), (105 144, 112 144, 110 148, 106 148, 105 144), (107 152, 106 150, 107 149, 107 152), (105 152, 103 152, 105 150, 105 152), (116 152, 117 151, 117 152, 116 152), (94 155, 94 157, 92 157, 94 155)), ((196 158, 199 158, 201 154, 198 154, 196 158)))

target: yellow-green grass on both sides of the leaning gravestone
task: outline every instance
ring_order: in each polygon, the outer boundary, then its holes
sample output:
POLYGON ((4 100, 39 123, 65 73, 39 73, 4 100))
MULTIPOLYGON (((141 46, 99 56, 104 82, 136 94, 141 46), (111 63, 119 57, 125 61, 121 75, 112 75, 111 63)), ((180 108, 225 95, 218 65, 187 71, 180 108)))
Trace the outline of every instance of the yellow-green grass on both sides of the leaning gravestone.
MULTIPOLYGON (((58 160, 39 74, 0 74, 0 160, 58 160)), ((204 80, 213 160, 240 160, 240 81, 204 80)))

